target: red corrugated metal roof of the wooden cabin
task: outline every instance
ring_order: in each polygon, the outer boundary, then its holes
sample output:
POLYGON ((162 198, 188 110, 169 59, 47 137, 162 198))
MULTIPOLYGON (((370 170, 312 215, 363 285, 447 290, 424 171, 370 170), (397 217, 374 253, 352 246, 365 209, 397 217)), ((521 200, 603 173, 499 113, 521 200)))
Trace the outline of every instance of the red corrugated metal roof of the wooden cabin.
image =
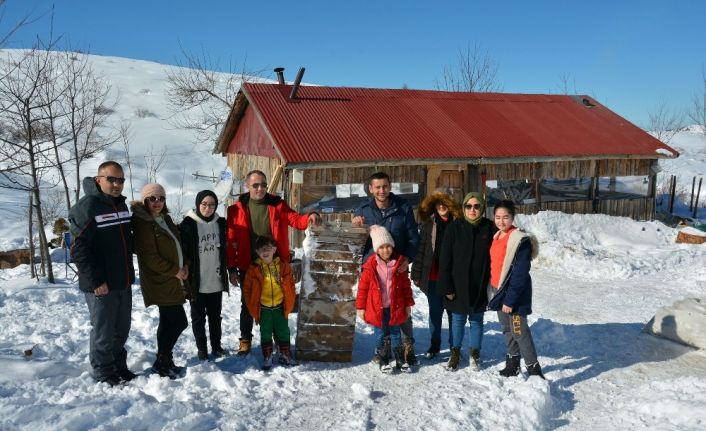
POLYGON ((588 96, 302 86, 290 100, 290 85, 242 91, 287 163, 678 155, 588 96))

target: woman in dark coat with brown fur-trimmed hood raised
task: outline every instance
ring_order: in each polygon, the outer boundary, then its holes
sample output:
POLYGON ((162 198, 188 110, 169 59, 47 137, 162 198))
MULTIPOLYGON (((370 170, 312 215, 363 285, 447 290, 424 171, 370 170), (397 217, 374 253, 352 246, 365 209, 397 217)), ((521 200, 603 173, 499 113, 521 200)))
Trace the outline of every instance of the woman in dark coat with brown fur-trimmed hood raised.
MULTIPOLYGON (((446 227, 463 217, 459 205, 446 189, 436 189, 424 198, 417 210, 422 223, 419 248, 412 263, 411 278, 424 292, 429 302, 429 332, 431 345, 425 353, 434 358, 441 350, 441 320, 444 314, 444 296, 439 292, 439 254, 446 227)), ((449 322, 449 347, 452 347, 451 312, 446 310, 449 322)))

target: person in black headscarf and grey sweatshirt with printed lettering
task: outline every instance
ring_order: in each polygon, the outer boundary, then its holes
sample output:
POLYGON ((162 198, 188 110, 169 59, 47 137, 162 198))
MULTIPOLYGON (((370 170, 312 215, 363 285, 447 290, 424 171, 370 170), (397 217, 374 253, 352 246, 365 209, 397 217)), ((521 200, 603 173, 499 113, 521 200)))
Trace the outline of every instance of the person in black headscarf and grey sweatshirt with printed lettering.
POLYGON ((228 292, 226 268, 226 220, 216 212, 218 198, 211 190, 196 195, 196 207, 179 225, 184 255, 191 262, 191 329, 194 331, 200 360, 208 359, 208 335, 211 354, 227 355, 221 346, 221 308, 223 292, 228 292))

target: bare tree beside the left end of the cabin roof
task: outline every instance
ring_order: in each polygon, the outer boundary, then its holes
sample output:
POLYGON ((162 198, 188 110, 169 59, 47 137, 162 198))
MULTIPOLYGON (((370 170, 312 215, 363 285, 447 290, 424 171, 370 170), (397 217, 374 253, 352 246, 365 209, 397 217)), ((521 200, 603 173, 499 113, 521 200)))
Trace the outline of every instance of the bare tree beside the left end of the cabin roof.
POLYGON ((182 47, 184 59, 167 72, 170 123, 195 132, 197 142, 212 142, 228 117, 240 85, 264 75, 248 70, 246 62, 230 62, 225 69, 203 49, 199 53, 182 47), (225 70, 225 72, 218 72, 225 70))

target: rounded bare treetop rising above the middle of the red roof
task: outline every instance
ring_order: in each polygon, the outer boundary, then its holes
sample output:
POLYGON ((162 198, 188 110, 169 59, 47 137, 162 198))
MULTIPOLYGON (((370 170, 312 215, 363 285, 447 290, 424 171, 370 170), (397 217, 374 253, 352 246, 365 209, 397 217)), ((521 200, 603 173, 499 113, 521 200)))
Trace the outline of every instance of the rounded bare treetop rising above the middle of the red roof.
POLYGON ((446 91, 500 91, 497 84, 498 65, 479 44, 458 50, 456 62, 444 66, 436 88, 446 91))

